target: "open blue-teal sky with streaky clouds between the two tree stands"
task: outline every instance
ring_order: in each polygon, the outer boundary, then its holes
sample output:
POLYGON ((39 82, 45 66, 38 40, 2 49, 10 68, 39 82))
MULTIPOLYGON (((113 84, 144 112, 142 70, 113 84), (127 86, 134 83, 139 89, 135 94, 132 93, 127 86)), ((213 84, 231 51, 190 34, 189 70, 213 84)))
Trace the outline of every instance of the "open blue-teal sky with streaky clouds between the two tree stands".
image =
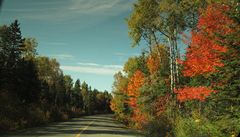
POLYGON ((111 91, 114 73, 143 47, 132 48, 125 21, 135 0, 5 0, 0 24, 18 19, 38 54, 56 58, 64 74, 111 91))

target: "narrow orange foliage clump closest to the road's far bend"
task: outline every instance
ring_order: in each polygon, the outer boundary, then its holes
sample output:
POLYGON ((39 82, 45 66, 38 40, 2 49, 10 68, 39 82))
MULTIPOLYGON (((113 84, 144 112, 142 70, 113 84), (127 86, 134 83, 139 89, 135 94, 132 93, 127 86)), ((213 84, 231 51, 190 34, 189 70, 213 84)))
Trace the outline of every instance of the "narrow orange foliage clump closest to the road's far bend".
POLYGON ((128 104, 135 108, 137 105, 137 98, 140 96, 139 88, 144 84, 144 75, 141 71, 137 70, 134 75, 130 78, 128 83, 128 104))

